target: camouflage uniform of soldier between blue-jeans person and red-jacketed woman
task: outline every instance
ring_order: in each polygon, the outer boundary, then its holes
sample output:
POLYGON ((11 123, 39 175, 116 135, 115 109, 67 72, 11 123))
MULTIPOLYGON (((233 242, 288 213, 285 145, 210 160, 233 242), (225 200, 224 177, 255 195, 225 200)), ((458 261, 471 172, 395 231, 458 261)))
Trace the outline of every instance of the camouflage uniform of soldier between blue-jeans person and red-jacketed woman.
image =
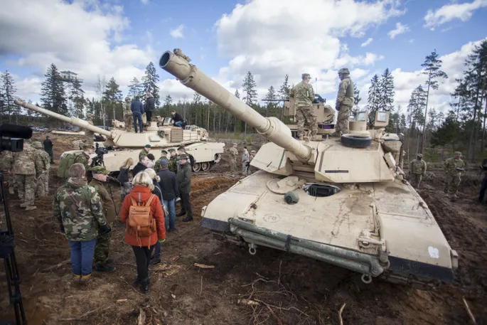
MULTIPOLYGON (((109 194, 109 188, 108 188, 109 184, 106 182, 99 181, 97 179, 92 179, 92 181, 90 182, 90 186, 94 187, 98 195, 100 195, 100 198, 102 200, 103 214, 107 218, 107 223, 109 224, 110 228, 112 228, 112 224, 117 215, 115 213, 115 204, 112 200, 112 197, 109 194)), ((109 254, 109 245, 111 239, 112 239, 112 233, 109 233, 107 235, 99 234, 97 236, 97 244, 95 245, 96 265, 105 265, 107 263, 107 258, 109 254)))

